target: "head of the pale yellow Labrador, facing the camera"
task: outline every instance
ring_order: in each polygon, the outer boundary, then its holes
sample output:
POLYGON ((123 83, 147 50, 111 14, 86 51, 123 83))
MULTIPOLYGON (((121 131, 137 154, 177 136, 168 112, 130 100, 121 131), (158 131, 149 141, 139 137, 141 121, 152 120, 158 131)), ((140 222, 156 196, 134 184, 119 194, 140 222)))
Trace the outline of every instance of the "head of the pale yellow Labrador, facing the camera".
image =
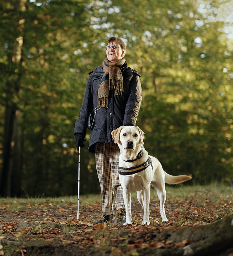
POLYGON ((121 126, 111 134, 120 149, 138 151, 144 144, 144 132, 138 126, 121 126))

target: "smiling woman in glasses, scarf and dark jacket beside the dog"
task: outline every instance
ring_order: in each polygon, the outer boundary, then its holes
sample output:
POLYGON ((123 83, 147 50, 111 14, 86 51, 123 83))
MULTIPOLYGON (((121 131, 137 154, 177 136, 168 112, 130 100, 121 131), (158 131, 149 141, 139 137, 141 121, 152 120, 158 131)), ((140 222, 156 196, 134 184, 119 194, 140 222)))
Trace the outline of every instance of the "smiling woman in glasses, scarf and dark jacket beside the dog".
POLYGON ((93 109, 98 108, 88 147, 90 152, 95 153, 102 196, 103 213, 95 224, 112 221, 124 223, 125 207, 117 169, 119 148, 114 144, 111 132, 121 125, 135 126, 141 104, 140 75, 127 66, 124 42, 111 37, 105 48, 107 59, 89 73, 82 108, 74 128, 79 150, 79 146, 84 146, 87 117, 93 109))

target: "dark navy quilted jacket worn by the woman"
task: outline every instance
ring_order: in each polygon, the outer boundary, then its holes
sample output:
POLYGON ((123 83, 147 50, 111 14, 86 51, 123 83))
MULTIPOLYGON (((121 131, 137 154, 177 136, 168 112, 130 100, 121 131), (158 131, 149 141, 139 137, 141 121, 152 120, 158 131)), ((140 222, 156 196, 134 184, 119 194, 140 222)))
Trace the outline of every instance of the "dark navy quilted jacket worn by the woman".
MULTIPOLYGON (((86 135, 88 114, 97 107, 99 84, 103 75, 102 65, 89 73, 82 108, 75 122, 74 135, 86 135)), ((140 75, 130 67, 122 69, 124 92, 122 96, 113 96, 109 91, 109 107, 96 112, 95 127, 91 131, 88 150, 94 153, 96 142, 109 143, 113 141, 111 132, 121 125, 136 125, 141 104, 140 75)))

